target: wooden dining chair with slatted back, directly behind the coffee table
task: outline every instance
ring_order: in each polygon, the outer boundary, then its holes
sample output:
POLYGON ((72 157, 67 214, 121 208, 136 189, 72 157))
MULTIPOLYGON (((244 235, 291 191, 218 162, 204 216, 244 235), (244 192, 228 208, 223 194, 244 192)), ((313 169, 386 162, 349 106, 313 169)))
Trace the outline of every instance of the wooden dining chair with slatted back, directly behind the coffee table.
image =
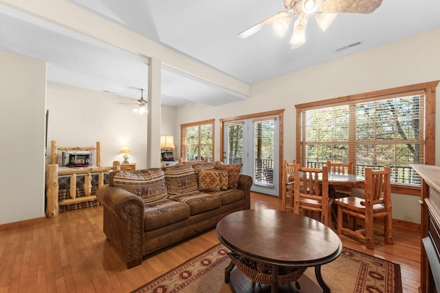
POLYGON ((295 164, 294 182, 294 213, 298 215, 308 215, 311 212, 320 213, 321 222, 329 226, 331 223, 331 202, 329 200, 328 167, 323 166, 321 170, 300 168, 298 164, 295 164))

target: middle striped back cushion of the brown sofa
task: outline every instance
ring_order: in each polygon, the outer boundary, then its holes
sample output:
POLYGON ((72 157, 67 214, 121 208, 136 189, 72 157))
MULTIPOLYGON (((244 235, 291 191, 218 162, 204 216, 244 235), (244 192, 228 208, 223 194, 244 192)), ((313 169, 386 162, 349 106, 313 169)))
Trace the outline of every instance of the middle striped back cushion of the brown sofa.
POLYGON ((186 194, 197 190, 197 174, 191 165, 168 166, 164 173, 168 194, 186 194))

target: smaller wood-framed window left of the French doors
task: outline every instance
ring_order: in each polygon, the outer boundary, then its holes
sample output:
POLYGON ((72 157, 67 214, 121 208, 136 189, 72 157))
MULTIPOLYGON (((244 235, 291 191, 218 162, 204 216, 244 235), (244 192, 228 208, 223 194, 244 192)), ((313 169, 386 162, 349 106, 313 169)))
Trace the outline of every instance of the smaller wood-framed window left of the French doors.
POLYGON ((214 119, 181 124, 181 157, 184 161, 213 161, 214 119))

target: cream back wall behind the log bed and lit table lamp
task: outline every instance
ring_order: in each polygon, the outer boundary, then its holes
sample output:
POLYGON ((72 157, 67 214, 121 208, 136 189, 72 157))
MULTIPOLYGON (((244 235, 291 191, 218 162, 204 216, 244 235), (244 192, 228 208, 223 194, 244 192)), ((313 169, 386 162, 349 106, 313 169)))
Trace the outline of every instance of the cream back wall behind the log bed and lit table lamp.
MULTIPOLYGON (((146 168, 147 116, 133 113, 135 105, 118 103, 135 100, 48 82, 48 148, 51 140, 58 146, 94 146, 100 141, 102 166, 111 166, 113 161, 122 161, 119 151, 126 144, 131 150, 129 162, 136 163, 136 169, 146 168)), ((161 133, 176 137, 176 109, 162 106, 161 133)))

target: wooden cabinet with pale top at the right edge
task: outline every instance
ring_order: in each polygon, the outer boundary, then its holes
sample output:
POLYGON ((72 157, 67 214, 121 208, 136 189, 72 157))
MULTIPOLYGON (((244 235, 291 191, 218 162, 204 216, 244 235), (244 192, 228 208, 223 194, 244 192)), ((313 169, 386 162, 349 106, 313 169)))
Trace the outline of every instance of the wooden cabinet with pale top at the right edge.
POLYGON ((421 176, 421 292, 440 290, 440 166, 411 165, 421 176))

